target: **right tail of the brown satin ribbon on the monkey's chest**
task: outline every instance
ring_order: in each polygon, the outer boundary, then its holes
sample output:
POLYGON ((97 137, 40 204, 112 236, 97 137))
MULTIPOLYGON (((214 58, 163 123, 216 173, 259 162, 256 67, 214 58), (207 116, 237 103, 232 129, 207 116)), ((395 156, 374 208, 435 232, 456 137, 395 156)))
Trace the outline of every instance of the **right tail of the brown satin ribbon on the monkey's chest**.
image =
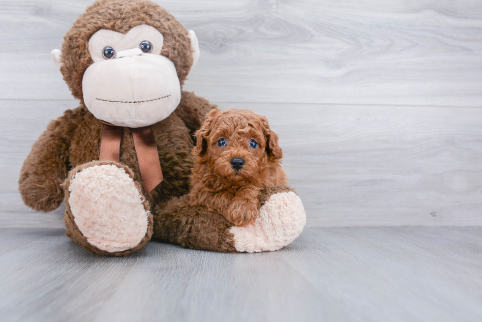
POLYGON ((146 193, 162 182, 161 163, 151 126, 131 128, 137 161, 146 193))

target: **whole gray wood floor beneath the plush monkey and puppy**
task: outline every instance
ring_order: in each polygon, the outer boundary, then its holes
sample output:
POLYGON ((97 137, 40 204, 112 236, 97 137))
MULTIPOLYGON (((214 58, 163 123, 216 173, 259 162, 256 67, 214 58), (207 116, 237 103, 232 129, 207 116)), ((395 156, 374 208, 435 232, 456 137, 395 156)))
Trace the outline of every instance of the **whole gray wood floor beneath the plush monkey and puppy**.
POLYGON ((150 242, 87 253, 63 230, 1 230, 4 321, 464 321, 482 315, 482 228, 306 229, 219 254, 150 242))

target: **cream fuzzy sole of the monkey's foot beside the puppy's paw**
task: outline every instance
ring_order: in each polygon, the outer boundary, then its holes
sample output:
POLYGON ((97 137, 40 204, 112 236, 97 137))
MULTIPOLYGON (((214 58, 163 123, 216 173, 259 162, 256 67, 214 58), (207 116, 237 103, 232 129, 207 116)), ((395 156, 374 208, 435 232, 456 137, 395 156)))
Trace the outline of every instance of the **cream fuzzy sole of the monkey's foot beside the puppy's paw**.
POLYGON ((301 234, 306 214, 300 197, 294 192, 271 195, 259 210, 255 222, 246 227, 231 227, 239 252, 274 251, 290 244, 301 234))

